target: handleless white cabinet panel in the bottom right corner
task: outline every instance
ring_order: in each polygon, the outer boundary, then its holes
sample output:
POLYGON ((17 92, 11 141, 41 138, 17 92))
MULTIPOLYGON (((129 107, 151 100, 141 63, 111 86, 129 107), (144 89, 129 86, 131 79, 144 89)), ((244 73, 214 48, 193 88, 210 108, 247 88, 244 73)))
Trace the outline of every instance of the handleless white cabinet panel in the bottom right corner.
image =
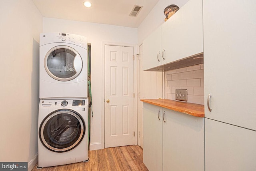
POLYGON ((205 118, 205 170, 255 171, 256 131, 205 118))

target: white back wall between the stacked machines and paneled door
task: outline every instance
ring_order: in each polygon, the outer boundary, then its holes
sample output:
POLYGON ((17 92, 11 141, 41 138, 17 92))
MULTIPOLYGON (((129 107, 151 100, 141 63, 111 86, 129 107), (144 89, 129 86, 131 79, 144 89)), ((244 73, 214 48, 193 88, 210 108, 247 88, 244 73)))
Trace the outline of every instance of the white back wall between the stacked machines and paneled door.
POLYGON ((137 29, 106 24, 43 18, 43 32, 72 33, 87 37, 91 44, 91 84, 94 117, 91 117, 90 150, 104 148, 104 42, 137 44, 137 29))

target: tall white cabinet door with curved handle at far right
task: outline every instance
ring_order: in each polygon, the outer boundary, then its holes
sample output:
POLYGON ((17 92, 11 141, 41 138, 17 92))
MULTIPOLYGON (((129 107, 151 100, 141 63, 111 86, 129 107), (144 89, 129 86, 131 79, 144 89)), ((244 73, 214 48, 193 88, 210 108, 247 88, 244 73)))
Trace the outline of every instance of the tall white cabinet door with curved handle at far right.
POLYGON ((204 0, 205 117, 256 130, 256 1, 204 0), (245 8, 243 8, 245 7, 245 8))

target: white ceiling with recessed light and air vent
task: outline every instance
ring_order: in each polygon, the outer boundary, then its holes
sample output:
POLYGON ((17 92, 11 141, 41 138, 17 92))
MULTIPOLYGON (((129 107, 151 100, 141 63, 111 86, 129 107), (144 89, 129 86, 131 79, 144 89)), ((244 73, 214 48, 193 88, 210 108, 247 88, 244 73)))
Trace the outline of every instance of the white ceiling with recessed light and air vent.
MULTIPOLYGON (((32 0, 43 17, 138 28, 159 0, 32 0), (84 1, 92 7, 86 8, 84 1), (136 17, 134 5, 143 6, 136 17)), ((163 14, 164 17, 164 14, 163 14)))

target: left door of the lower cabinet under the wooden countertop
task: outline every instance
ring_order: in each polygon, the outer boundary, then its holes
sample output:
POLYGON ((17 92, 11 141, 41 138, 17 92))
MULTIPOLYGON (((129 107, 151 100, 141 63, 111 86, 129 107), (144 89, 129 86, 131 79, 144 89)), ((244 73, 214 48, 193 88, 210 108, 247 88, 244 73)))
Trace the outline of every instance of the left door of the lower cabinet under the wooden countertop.
POLYGON ((143 162, 150 171, 161 171, 162 159, 162 107, 143 103, 143 162))

